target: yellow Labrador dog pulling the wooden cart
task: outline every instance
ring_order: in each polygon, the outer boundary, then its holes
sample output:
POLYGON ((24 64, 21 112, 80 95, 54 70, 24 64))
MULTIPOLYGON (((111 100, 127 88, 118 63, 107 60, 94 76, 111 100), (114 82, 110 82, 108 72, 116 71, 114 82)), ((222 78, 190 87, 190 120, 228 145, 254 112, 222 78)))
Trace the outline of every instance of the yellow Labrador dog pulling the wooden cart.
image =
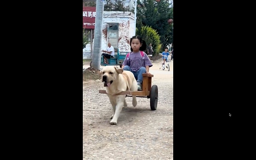
MULTIPOLYGON (((127 107, 125 95, 116 95, 122 91, 137 91, 137 81, 130 71, 117 69, 116 67, 107 66, 101 70, 102 82, 106 87, 108 98, 113 108, 113 114, 110 117, 111 125, 117 124, 117 119, 123 106, 127 107)), ((136 96, 132 96, 132 105, 137 105, 136 96)))

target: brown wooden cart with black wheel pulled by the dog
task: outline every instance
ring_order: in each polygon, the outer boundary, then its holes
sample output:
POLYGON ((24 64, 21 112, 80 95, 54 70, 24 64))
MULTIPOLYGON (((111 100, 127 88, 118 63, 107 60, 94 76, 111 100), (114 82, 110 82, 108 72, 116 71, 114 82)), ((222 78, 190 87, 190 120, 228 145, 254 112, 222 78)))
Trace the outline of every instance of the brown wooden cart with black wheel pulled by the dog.
MULTIPOLYGON (((158 88, 157 85, 153 85, 151 87, 151 78, 154 75, 148 75, 147 73, 143 73, 143 82, 142 82, 142 91, 123 91, 117 95, 126 95, 131 97, 136 95, 136 97, 143 97, 150 99, 150 108, 152 111, 157 109, 157 101, 158 101, 158 88)), ((107 94, 106 90, 99 90, 99 93, 107 94)))

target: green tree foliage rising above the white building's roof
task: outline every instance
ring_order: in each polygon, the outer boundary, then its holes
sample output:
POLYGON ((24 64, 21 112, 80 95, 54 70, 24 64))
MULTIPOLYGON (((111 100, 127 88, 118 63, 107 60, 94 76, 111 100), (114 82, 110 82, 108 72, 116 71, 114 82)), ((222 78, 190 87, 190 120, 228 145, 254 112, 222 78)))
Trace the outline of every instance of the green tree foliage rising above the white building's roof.
POLYGON ((130 11, 129 6, 125 6, 124 0, 115 0, 116 3, 112 3, 111 0, 107 0, 104 5, 104 11, 130 11))

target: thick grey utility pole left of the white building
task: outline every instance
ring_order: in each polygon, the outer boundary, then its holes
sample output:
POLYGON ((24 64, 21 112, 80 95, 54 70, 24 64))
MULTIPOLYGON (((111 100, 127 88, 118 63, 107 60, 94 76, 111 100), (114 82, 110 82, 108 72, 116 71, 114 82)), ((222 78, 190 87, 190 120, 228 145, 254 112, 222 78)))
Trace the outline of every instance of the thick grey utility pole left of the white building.
POLYGON ((96 0, 96 17, 95 17, 95 28, 94 28, 93 64, 92 64, 92 67, 96 70, 100 70, 103 8, 104 8, 104 0, 96 0))

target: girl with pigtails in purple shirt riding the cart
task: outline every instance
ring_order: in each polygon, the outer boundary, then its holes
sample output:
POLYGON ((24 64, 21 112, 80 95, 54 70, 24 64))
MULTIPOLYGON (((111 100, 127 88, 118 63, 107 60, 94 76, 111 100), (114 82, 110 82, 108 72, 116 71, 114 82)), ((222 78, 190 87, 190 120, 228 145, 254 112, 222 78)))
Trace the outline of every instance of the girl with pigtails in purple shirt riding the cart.
POLYGON ((144 56, 141 55, 140 51, 146 49, 147 45, 140 36, 133 36, 130 40, 131 53, 129 56, 126 55, 125 60, 122 63, 122 69, 131 71, 137 80, 138 90, 141 89, 141 82, 143 81, 142 73, 149 73, 149 67, 152 67, 152 63, 148 58, 148 55, 143 52, 144 56))

